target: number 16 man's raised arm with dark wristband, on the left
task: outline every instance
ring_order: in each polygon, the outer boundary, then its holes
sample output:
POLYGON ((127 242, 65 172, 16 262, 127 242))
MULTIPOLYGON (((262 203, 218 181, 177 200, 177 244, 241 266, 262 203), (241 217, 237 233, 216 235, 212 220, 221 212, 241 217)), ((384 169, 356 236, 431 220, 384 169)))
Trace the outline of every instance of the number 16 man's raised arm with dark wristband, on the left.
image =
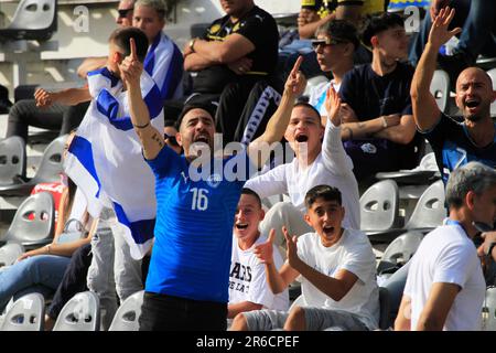
POLYGON ((150 113, 141 95, 140 77, 143 72, 143 64, 136 55, 134 40, 130 39, 131 53, 120 64, 121 77, 128 87, 129 113, 132 126, 143 146, 145 159, 154 159, 160 150, 165 146, 163 133, 159 132, 150 124, 150 113))

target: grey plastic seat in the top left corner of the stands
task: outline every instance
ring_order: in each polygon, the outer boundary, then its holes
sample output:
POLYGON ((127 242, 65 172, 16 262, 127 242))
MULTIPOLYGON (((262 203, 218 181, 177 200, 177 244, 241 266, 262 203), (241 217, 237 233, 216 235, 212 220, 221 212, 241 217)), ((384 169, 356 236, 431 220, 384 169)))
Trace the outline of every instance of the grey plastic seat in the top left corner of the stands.
POLYGON ((0 40, 47 41, 56 30, 56 0, 21 0, 10 25, 0 30, 0 40))

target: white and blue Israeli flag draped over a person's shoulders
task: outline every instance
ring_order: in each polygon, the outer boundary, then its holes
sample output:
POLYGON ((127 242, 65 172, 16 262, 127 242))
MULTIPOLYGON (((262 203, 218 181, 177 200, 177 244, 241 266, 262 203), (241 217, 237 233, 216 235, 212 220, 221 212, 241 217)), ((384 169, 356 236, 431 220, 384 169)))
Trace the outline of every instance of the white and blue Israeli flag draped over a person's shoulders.
MULTIPOLYGON (((93 99, 68 151, 65 171, 85 194, 91 216, 98 217, 104 206, 115 210, 131 256, 140 259, 153 238, 154 175, 144 162, 122 83, 101 68, 88 74, 88 86, 93 99)), ((151 125, 163 131, 160 89, 145 71, 141 93, 151 125)))

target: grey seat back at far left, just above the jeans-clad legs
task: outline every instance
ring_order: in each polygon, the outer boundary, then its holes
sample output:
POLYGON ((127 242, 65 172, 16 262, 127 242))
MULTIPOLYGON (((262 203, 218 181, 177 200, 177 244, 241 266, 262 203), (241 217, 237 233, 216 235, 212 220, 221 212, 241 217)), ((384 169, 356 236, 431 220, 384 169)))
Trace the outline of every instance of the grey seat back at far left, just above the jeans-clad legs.
POLYGON ((40 192, 19 206, 9 229, 0 240, 24 246, 47 244, 53 238, 55 210, 52 194, 40 192))

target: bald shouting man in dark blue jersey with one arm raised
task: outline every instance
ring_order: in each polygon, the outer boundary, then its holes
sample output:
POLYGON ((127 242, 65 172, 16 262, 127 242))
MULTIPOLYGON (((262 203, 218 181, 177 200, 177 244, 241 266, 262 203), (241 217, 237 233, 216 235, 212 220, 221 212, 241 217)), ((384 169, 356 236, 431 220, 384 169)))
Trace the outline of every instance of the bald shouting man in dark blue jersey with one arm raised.
POLYGON ((449 31, 453 17, 454 9, 446 7, 435 18, 410 90, 417 128, 431 143, 444 183, 454 169, 470 161, 496 168, 496 127, 490 118, 496 93, 490 77, 477 67, 460 74, 456 106, 463 114, 463 122, 444 115, 429 89, 439 49, 461 31, 460 28, 449 31))

